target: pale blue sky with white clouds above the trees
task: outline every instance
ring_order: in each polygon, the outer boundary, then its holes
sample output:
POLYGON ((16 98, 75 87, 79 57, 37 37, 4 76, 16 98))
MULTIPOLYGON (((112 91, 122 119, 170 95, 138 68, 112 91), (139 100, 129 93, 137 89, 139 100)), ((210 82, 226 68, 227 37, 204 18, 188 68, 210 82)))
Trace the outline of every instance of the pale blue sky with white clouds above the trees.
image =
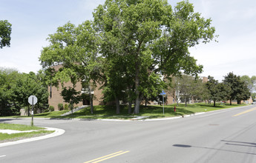
MULTIPOLYGON (((82 24, 93 19, 93 10, 105 0, 0 0, 0 20, 12 24, 10 47, 0 49, 0 67, 21 73, 42 68, 42 47, 49 34, 68 21, 82 24)), ((168 0, 173 7, 180 0, 168 0)), ((203 65, 200 76, 214 76, 221 82, 233 72, 256 76, 256 1, 190 0, 194 12, 211 19, 217 41, 191 47, 191 56, 203 65)))

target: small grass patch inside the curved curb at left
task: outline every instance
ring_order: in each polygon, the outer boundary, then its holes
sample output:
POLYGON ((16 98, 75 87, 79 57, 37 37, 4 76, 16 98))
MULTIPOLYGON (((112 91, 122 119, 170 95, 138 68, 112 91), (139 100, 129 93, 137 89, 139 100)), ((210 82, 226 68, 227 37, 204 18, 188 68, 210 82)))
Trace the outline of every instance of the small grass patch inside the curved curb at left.
POLYGON ((12 142, 21 139, 32 138, 36 136, 44 136, 54 131, 44 130, 42 127, 31 127, 24 124, 0 124, 0 130, 19 130, 19 131, 27 131, 27 130, 36 130, 30 133, 0 133, 0 143, 1 142, 12 142))

